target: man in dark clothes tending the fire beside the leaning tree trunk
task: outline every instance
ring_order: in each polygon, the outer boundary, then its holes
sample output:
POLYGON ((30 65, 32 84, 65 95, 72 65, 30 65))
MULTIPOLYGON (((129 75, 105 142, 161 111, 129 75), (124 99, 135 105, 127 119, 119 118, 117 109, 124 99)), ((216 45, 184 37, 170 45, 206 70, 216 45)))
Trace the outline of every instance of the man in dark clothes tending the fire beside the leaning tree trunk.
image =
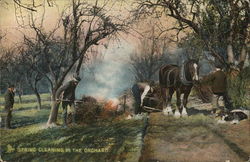
POLYGON ((67 126, 67 107, 70 106, 73 108, 73 116, 72 116, 72 122, 75 124, 75 116, 76 116, 76 110, 75 110, 75 90, 76 86, 80 82, 80 77, 73 77, 72 80, 67 82, 65 85, 61 86, 56 94, 57 101, 62 101, 62 108, 63 108, 63 126, 67 126), (62 99, 60 99, 60 97, 62 99))

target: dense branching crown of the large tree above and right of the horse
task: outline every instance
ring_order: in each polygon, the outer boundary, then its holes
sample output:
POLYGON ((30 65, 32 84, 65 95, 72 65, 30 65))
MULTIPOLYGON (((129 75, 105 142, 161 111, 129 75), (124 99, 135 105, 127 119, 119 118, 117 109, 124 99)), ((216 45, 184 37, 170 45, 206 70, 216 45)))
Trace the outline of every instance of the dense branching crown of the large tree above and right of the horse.
POLYGON ((157 14, 177 21, 178 34, 191 29, 196 38, 222 64, 243 67, 249 48, 249 1, 230 0, 137 0, 136 16, 157 14), (226 57, 219 52, 224 46, 226 57))

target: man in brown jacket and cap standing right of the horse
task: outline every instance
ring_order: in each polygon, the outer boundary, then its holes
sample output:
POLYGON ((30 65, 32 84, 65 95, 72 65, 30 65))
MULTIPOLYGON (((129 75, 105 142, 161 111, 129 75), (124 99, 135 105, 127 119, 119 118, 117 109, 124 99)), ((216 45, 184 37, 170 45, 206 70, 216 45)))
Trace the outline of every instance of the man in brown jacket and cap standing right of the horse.
POLYGON ((225 107, 229 111, 232 110, 232 102, 227 93, 227 77, 219 65, 202 82, 209 83, 211 86, 213 92, 212 105, 215 110, 219 109, 218 100, 221 96, 223 97, 225 107))

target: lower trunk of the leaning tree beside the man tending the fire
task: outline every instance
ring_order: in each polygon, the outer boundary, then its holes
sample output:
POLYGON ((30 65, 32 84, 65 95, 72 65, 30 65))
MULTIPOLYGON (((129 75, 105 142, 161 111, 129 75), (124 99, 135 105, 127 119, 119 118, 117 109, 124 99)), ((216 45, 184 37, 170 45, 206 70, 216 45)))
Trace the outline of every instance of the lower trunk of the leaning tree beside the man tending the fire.
POLYGON ((52 97, 51 97, 51 111, 50 111, 49 119, 47 121, 47 125, 56 124, 59 105, 60 105, 60 102, 56 101, 56 91, 53 91, 52 97))

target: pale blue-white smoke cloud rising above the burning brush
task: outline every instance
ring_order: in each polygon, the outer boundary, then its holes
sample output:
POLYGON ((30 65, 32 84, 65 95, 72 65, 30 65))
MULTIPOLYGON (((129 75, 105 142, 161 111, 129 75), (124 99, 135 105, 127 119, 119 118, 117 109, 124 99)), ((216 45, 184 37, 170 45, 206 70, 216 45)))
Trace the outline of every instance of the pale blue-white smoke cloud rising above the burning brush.
POLYGON ((103 99, 113 99, 134 83, 134 75, 129 67, 129 55, 134 50, 133 45, 126 41, 114 43, 104 51, 100 62, 84 68, 76 89, 76 98, 83 95, 103 99))

